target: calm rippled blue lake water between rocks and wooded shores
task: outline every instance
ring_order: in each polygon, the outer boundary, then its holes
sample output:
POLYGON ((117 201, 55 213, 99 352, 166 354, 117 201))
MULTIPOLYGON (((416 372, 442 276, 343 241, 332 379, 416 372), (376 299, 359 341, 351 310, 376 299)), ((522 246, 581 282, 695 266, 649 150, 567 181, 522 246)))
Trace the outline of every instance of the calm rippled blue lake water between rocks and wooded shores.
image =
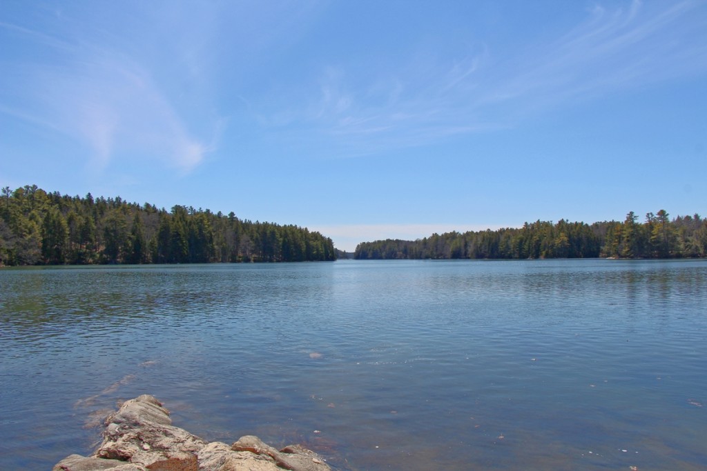
POLYGON ((704 470, 707 261, 0 270, 0 469, 150 393, 341 470, 704 470))

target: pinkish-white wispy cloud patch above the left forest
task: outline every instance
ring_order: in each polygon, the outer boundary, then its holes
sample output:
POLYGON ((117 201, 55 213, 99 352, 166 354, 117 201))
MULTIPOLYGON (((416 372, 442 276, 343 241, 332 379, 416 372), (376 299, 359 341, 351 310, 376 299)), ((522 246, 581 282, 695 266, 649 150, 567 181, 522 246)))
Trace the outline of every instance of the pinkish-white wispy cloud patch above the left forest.
POLYGON ((106 169, 116 155, 161 162, 180 173, 197 167, 214 143, 189 132, 151 67, 129 49, 102 44, 100 35, 64 21, 79 29, 57 37, 0 23, 14 40, 49 58, 25 56, 7 67, 3 81, 13 97, 0 93, 0 111, 83 143, 94 171, 106 169))

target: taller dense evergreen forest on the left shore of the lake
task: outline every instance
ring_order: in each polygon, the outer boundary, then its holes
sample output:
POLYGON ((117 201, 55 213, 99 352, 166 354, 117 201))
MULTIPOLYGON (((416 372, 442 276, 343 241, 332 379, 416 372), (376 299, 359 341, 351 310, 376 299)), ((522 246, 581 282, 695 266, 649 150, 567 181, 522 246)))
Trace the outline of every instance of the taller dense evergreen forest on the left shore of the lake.
POLYGON ((332 239, 305 227, 175 205, 62 196, 36 185, 0 196, 0 266, 334 261, 332 239))

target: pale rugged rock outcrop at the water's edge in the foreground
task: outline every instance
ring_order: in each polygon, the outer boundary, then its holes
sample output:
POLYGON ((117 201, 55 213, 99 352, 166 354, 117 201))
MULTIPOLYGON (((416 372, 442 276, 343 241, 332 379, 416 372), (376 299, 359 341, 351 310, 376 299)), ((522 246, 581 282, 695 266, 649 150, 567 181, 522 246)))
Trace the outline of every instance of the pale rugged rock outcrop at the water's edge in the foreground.
POLYGON ((123 403, 105 420, 103 443, 90 456, 69 455, 53 471, 328 471, 325 460, 299 445, 278 451, 257 436, 232 445, 207 443, 174 427, 151 395, 123 403))

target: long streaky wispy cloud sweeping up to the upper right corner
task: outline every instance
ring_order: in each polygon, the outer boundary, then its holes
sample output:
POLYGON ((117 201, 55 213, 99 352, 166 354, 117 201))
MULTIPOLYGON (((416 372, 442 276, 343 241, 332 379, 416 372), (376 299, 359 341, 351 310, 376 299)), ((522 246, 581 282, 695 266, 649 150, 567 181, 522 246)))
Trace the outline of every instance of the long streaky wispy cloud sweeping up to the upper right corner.
POLYGON ((323 67, 309 101, 299 112, 289 107, 279 124, 328 136, 347 156, 506 129, 578 102, 705 73, 707 24, 703 11, 694 15, 699 8, 703 2, 691 0, 597 5, 556 40, 521 38, 503 54, 493 43, 451 58, 439 50, 423 64, 413 51, 407 63, 398 59, 380 73, 344 59, 323 67))

